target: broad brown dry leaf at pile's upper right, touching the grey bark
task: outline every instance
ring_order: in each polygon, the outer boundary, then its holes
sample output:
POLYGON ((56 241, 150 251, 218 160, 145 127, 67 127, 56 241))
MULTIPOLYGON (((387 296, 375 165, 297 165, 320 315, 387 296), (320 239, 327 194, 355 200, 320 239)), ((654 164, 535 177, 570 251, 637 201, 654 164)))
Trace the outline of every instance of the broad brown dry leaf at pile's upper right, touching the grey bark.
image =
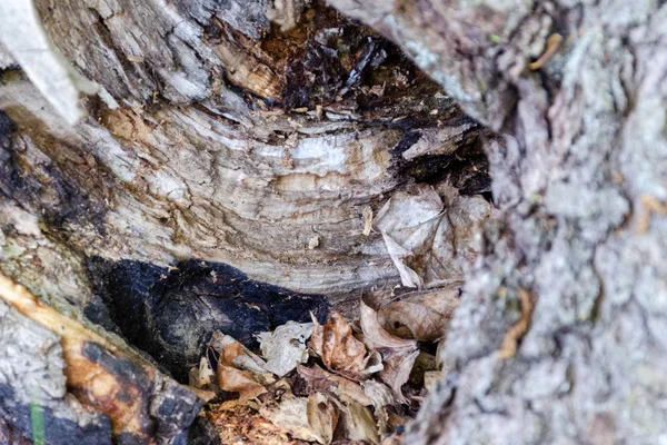
POLYGON ((445 337, 449 320, 459 304, 461 283, 401 296, 378 310, 380 325, 390 334, 420 342, 445 337))

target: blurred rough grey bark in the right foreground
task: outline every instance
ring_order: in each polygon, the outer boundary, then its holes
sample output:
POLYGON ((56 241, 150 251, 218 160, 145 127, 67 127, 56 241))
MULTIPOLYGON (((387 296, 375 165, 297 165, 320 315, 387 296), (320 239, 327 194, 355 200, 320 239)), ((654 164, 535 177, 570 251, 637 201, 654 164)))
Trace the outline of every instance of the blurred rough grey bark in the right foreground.
POLYGON ((452 370, 408 443, 664 441, 667 6, 331 3, 506 135, 487 147, 502 216, 448 336, 452 370))

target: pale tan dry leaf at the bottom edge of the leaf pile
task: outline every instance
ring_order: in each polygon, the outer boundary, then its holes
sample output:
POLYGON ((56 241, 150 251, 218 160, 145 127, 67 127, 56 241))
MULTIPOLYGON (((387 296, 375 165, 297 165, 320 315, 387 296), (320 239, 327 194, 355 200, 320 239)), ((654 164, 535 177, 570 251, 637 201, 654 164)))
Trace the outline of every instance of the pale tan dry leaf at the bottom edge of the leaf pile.
POLYGON ((285 394, 278 404, 261 406, 259 414, 295 438, 307 442, 319 439, 308 424, 308 399, 305 397, 285 394))

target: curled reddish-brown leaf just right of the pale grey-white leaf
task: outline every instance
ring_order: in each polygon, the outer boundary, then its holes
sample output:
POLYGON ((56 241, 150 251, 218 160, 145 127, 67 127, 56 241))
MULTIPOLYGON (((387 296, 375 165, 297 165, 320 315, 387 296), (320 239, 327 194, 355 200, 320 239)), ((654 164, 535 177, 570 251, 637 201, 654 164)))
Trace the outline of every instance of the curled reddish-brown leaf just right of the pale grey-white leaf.
POLYGON ((336 312, 325 325, 317 323, 309 346, 322 358, 325 365, 342 375, 359 378, 367 366, 366 346, 355 338, 352 328, 336 312))

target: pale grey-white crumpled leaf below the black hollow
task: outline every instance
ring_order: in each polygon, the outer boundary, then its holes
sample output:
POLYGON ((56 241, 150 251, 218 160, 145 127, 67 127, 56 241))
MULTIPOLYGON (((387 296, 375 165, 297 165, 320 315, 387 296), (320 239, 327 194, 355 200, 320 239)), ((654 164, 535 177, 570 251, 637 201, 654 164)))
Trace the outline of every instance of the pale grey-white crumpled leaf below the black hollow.
POLYGON ((262 356, 267 359, 265 368, 279 377, 297 367, 308 358, 306 340, 312 334, 312 323, 288 322, 272 333, 261 333, 257 337, 262 356))

